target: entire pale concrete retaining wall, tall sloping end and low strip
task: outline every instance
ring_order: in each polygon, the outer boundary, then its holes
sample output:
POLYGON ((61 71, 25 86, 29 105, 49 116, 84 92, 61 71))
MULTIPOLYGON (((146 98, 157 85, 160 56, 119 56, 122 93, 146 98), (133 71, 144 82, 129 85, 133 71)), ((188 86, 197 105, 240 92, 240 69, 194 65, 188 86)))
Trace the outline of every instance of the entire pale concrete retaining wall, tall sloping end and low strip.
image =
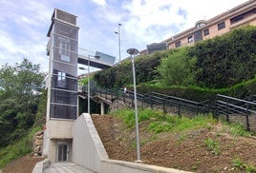
POLYGON ((73 162, 98 173, 185 173, 172 168, 110 160, 96 132, 91 116, 82 114, 73 125, 73 162))

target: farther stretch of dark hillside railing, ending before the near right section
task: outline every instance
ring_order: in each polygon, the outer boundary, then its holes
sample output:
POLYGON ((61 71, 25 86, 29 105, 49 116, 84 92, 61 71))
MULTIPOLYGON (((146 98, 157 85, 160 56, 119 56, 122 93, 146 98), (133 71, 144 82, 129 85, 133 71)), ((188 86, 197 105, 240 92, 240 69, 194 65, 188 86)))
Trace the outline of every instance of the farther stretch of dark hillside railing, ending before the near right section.
MULTIPOLYGON (((84 86, 82 91, 87 93, 88 87, 84 86)), ((121 89, 113 90, 103 87, 90 87, 90 96, 92 97, 96 94, 107 100, 113 100, 116 98, 122 99, 124 102, 126 102, 126 100, 130 100, 133 103, 134 101, 134 92, 130 90, 127 90, 126 93, 124 93, 121 89)), ((212 111, 212 107, 208 105, 210 100, 199 103, 179 97, 164 95, 158 92, 152 92, 150 94, 137 93, 137 99, 141 103, 140 106, 143 106, 143 104, 147 104, 151 107, 160 106, 165 113, 168 112, 168 107, 177 107, 177 114, 179 116, 181 116, 182 109, 196 112, 197 115, 199 113, 208 113, 209 111, 212 111)))

